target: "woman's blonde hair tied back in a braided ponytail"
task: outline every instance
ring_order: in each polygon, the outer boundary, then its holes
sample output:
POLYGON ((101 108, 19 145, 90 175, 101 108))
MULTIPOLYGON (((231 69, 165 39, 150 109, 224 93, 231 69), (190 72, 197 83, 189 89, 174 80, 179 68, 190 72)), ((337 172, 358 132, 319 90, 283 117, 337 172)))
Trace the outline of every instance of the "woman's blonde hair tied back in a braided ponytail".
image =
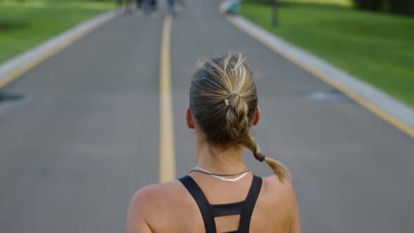
POLYGON ((280 180, 291 178, 286 166, 259 151, 249 131, 258 91, 246 56, 227 53, 201 62, 192 77, 189 106, 209 143, 243 145, 255 159, 266 161, 280 180))

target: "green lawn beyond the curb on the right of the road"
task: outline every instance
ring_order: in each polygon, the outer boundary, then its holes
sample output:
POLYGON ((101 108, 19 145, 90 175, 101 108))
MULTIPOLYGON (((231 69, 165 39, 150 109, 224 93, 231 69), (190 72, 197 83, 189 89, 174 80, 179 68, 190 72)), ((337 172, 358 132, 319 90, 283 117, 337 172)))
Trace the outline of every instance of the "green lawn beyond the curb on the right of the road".
POLYGON ((246 1, 241 14, 414 107, 414 18, 317 1, 280 0, 279 27, 267 4, 246 1))

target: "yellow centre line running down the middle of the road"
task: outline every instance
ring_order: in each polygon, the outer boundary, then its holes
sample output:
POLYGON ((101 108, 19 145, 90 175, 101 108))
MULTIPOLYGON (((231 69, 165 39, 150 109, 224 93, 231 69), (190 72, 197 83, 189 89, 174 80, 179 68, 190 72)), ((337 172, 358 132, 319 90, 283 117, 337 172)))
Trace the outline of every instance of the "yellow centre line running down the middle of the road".
POLYGON ((173 18, 167 15, 163 22, 160 58, 160 142, 159 182, 175 179, 175 148, 173 107, 171 95, 170 37, 173 18))

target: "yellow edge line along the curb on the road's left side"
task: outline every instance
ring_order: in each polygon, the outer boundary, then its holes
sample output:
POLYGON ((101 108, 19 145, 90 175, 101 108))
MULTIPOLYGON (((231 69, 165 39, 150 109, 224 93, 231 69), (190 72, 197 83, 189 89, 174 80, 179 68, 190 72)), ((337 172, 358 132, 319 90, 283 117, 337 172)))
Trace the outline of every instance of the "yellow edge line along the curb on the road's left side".
POLYGON ((30 62, 27 62, 26 65, 20 67, 19 69, 15 70, 11 74, 8 74, 6 76, 6 78, 2 79, 0 81, 0 88, 3 88, 7 84, 10 84, 12 81, 14 81, 15 79, 17 79, 22 74, 25 74, 30 69, 32 69, 36 65, 39 65, 41 62, 43 62, 44 60, 50 58, 51 56, 55 55, 56 53, 59 53, 64 48, 67 48, 67 46, 73 44, 75 41, 81 39, 83 36, 85 36, 86 34, 88 34, 91 31, 93 31, 93 29, 96 29, 96 28, 100 27, 101 25, 103 25, 107 21, 108 20, 105 20, 103 22, 100 22, 98 25, 95 25, 94 27, 91 27, 90 29, 86 29, 84 32, 81 32, 79 34, 76 34, 76 35, 72 36, 71 38, 67 39, 67 41, 64 41, 62 44, 56 46, 55 48, 53 48, 53 49, 51 49, 49 51, 46 51, 46 53, 44 53, 43 55, 41 55, 39 58, 36 58, 36 59, 34 59, 34 60, 30 61, 30 62))

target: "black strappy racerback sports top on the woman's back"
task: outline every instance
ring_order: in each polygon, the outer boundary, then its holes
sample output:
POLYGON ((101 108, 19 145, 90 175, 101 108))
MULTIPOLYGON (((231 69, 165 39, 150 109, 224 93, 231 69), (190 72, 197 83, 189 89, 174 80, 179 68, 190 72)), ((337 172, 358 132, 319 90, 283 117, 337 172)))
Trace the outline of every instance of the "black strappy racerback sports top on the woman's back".
POLYGON ((203 216, 204 226, 206 227, 206 233, 217 233, 217 229, 215 229, 215 217, 237 214, 240 215, 239 229, 235 232, 228 233, 248 233, 253 209, 255 208, 262 187, 262 178, 253 175, 253 181, 246 200, 220 205, 211 205, 208 203, 206 195, 204 195, 199 185, 189 175, 179 180, 199 206, 201 215, 203 216))

